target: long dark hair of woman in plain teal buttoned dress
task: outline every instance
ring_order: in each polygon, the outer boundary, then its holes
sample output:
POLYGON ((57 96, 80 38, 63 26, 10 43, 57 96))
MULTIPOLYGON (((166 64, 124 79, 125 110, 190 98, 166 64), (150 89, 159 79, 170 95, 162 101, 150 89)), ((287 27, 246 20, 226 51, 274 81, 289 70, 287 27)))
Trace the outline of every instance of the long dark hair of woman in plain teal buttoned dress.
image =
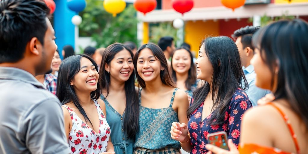
MULTIPOLYGON (((108 96, 109 87, 110 87, 110 74, 105 70, 105 64, 110 65, 112 59, 120 51, 127 50, 129 54, 134 57, 132 51, 125 47, 123 44, 114 43, 109 45, 106 50, 103 52, 103 59, 100 66, 100 76, 99 83, 102 86, 101 91, 106 91, 108 96)), ((125 108, 125 117, 124 117, 124 129, 127 133, 128 138, 135 140, 136 131, 138 129, 138 120, 139 120, 139 99, 138 94, 135 89, 135 70, 133 70, 132 75, 125 81, 125 98, 126 98, 126 108, 125 108)))

